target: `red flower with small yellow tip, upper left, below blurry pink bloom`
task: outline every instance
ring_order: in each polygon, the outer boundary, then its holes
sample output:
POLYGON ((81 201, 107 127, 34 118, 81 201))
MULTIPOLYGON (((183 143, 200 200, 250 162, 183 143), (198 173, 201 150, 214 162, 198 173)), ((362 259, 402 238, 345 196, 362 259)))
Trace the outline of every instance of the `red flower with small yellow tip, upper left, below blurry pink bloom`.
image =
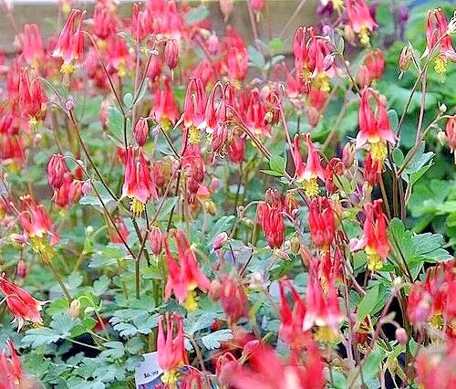
POLYGON ((38 121, 46 116, 47 96, 39 79, 30 81, 27 68, 21 68, 19 79, 19 109, 28 119, 30 128, 35 129, 38 121))

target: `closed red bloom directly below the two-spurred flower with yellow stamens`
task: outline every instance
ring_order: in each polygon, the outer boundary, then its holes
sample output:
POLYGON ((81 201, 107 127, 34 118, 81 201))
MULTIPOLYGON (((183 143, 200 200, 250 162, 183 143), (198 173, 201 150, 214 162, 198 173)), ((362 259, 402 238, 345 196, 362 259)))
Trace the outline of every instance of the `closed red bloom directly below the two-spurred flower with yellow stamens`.
POLYGON ((329 250, 336 235, 333 205, 327 197, 318 196, 309 205, 310 238, 322 251, 329 250))

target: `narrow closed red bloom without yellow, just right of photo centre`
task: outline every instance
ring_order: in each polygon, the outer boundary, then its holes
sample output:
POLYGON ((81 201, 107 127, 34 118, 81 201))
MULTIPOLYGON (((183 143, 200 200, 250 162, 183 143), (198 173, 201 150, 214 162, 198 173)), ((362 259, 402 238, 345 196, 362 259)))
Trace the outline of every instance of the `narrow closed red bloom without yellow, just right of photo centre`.
POLYGON ((280 194, 276 190, 268 189, 264 202, 258 205, 258 223, 262 226, 264 237, 271 248, 282 247, 285 240, 283 205, 280 194))

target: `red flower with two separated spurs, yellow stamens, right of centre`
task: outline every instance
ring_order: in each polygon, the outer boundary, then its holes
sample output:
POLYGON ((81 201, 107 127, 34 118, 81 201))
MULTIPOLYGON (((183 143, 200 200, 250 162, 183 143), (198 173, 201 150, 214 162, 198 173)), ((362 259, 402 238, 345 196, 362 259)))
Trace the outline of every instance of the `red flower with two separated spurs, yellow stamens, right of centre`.
POLYGON ((318 178, 325 182, 325 170, 320 161, 320 155, 317 152, 314 143, 310 140, 310 133, 306 133, 307 143, 307 161, 303 162, 300 152, 299 135, 295 135, 294 148, 292 152, 293 161, 295 163, 295 178, 298 183, 302 183, 306 191, 306 195, 314 197, 318 195, 320 189, 318 187, 318 178))

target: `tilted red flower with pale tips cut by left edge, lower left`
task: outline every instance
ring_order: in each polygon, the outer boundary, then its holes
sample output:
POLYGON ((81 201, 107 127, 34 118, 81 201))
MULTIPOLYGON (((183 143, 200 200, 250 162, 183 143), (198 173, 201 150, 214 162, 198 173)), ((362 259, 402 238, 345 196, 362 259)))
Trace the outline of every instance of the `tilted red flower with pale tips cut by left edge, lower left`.
POLYGON ((5 295, 6 305, 15 316, 17 331, 20 331, 24 326, 24 321, 41 324, 39 312, 46 302, 34 299, 25 289, 3 277, 0 277, 0 291, 5 295))

